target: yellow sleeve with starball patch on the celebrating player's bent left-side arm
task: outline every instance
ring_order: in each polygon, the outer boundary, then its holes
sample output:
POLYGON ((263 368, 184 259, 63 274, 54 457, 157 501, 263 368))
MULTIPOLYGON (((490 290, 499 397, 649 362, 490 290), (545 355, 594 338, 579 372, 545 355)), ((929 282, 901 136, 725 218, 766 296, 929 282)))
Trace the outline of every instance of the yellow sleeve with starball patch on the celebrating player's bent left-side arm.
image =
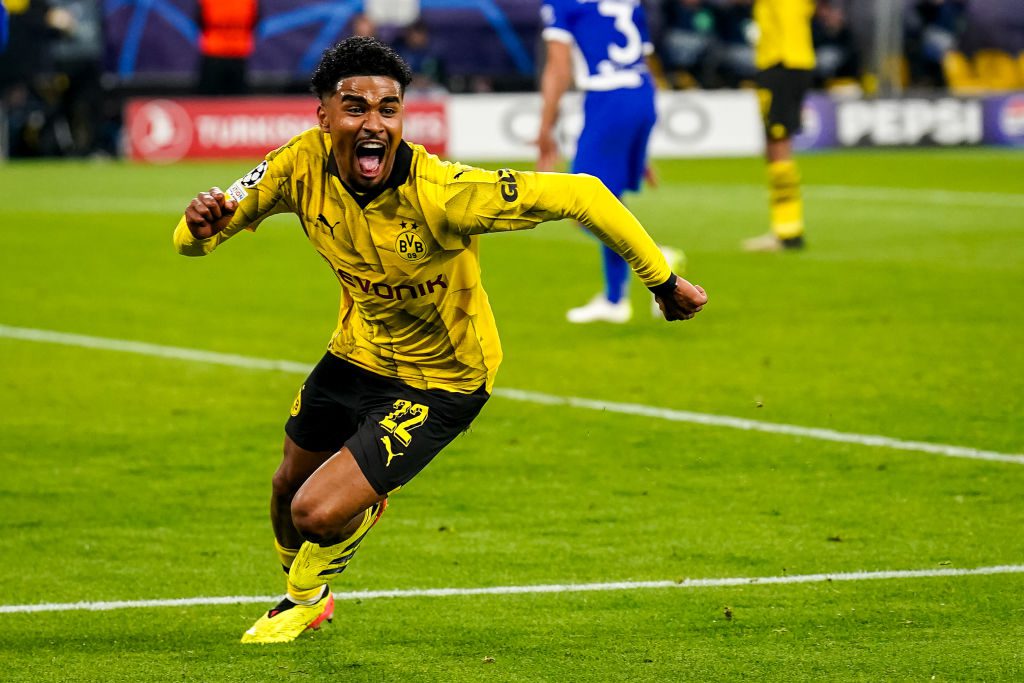
POLYGON ((287 189, 295 160, 294 154, 288 154, 292 142, 268 154, 256 168, 224 190, 224 196, 233 199, 239 206, 231 221, 220 232, 205 240, 197 240, 182 215, 174 228, 174 248, 178 253, 205 256, 242 230, 255 230, 263 219, 291 210, 287 189))

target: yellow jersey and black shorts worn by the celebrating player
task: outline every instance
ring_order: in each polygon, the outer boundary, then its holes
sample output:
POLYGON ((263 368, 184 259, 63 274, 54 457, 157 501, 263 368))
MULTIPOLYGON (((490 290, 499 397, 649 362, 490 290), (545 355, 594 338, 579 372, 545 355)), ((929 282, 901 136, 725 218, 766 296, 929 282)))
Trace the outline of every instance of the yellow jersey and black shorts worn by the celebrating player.
POLYGON ((374 488, 404 484, 483 407, 502 359, 480 284, 480 234, 572 218, 620 252, 648 287, 673 280, 636 218, 588 175, 485 171, 401 142, 383 187, 342 182, 330 137, 293 138, 228 187, 239 203, 206 240, 184 217, 179 253, 202 256, 268 216, 298 215, 341 285, 328 354, 286 431, 308 451, 349 447, 374 488))

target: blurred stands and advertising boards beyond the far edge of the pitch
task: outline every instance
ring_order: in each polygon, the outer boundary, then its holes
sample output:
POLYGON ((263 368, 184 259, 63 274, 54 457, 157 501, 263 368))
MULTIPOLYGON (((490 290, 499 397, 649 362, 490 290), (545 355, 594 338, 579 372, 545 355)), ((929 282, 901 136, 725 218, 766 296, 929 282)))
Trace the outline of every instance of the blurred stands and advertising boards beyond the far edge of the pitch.
MULTIPOLYGON (((2 156, 248 158, 311 117, 301 98, 179 101, 201 85, 196 2, 6 4, 2 156)), ((645 4, 663 88, 653 155, 757 154, 751 0, 645 4)), ((262 0, 247 80, 225 81, 220 91, 305 94, 324 48, 353 32, 374 33, 400 47, 418 71, 412 139, 458 158, 532 159, 537 100, 515 94, 536 90, 539 6, 262 0)), ((808 101, 803 148, 1024 143, 1024 98, 1015 94, 1024 90, 1018 0, 828 0, 818 3, 814 39, 821 95, 808 101)), ((574 126, 571 117, 563 126, 567 151, 574 126)))

